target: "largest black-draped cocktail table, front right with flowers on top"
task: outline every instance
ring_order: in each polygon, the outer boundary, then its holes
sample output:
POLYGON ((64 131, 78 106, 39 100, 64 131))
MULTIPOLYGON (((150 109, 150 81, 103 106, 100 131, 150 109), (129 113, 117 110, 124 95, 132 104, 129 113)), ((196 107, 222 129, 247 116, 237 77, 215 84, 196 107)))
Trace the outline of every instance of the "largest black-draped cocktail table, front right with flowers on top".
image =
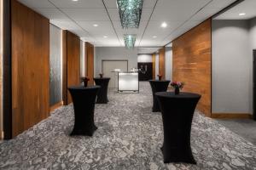
POLYGON ((164 125, 164 144, 161 148, 164 162, 195 164, 190 147, 190 132, 199 94, 159 92, 155 94, 160 104, 164 125))

